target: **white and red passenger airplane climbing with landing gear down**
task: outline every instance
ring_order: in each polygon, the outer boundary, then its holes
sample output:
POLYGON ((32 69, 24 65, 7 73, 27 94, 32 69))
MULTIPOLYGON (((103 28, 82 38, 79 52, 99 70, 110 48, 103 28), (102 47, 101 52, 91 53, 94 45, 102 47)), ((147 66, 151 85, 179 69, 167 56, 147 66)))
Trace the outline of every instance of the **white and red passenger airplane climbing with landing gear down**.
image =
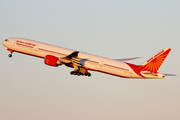
POLYGON ((9 57, 12 57, 13 52, 17 52, 43 58, 44 63, 49 66, 65 65, 74 68, 70 72, 71 75, 90 77, 89 71, 97 71, 122 78, 137 79, 165 78, 165 74, 160 74, 158 70, 171 51, 170 48, 165 48, 143 64, 135 65, 125 61, 138 57, 109 59, 24 38, 8 38, 2 41, 2 44, 10 52, 9 57))

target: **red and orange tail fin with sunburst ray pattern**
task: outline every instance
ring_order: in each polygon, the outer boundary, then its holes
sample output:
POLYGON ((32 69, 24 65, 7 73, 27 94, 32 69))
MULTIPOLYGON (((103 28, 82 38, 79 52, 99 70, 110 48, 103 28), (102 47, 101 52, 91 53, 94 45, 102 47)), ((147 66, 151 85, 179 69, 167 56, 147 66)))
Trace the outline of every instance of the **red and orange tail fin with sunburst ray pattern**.
POLYGON ((170 48, 165 48, 164 50, 150 58, 148 61, 141 65, 143 67, 143 70, 157 73, 170 51, 170 48))

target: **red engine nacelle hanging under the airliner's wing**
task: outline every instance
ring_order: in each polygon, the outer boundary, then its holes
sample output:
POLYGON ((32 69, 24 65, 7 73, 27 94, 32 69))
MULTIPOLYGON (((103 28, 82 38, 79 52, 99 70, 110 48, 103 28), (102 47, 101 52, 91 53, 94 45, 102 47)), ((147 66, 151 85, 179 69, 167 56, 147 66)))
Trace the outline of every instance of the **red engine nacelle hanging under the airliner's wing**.
POLYGON ((44 63, 49 66, 57 67, 58 65, 62 65, 63 63, 59 60, 58 57, 52 55, 46 55, 44 58, 44 63))

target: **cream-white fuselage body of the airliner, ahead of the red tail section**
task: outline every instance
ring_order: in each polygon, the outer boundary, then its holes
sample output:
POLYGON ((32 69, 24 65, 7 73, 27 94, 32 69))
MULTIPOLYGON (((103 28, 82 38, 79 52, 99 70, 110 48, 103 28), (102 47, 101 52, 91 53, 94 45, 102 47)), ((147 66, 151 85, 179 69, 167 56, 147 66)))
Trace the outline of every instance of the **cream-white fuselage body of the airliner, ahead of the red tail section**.
MULTIPOLYGON (((3 41, 2 44, 7 50, 10 49, 14 52, 40 58, 45 58, 46 55, 53 55, 58 58, 62 58, 74 52, 74 50, 71 49, 22 38, 10 38, 8 41, 3 41)), ((143 78, 142 76, 136 74, 125 62, 91 55, 84 52, 79 52, 78 58, 80 59, 80 62, 84 62, 83 64, 87 70, 99 71, 125 78, 143 78)))

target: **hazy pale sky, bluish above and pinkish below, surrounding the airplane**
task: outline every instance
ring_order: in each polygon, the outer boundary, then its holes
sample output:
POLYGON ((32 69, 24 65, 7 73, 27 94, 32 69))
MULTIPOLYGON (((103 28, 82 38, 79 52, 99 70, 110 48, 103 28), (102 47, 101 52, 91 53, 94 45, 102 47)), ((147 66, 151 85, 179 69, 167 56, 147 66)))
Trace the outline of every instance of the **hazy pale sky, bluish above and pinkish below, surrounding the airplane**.
POLYGON ((0 39, 21 37, 108 58, 143 57, 172 48, 163 80, 124 79, 46 66, 1 45, 0 119, 179 120, 180 1, 1 0, 0 39))

